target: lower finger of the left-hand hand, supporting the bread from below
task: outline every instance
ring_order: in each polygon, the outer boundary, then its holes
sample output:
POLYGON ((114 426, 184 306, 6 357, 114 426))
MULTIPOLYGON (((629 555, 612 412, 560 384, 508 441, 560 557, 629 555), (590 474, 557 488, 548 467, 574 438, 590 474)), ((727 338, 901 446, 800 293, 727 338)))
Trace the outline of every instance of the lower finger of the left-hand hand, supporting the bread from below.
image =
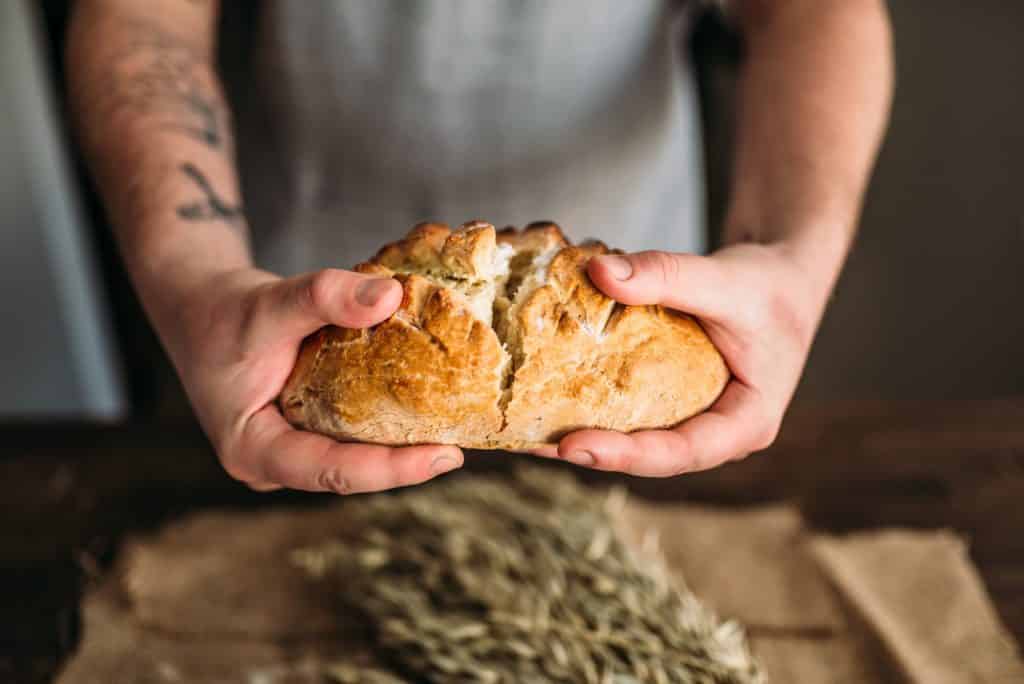
POLYGON ((247 422, 237 458, 254 480, 338 494, 418 484, 463 464, 456 446, 340 443, 294 429, 269 405, 247 422))

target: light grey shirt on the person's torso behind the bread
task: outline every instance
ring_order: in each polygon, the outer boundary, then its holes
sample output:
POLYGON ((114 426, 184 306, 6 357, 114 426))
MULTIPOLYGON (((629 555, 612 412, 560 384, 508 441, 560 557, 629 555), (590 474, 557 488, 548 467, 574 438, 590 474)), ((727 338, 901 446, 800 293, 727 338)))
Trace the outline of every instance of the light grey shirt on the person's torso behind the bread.
POLYGON ((264 0, 237 113, 257 262, 350 266, 425 219, 701 251, 687 10, 264 0))

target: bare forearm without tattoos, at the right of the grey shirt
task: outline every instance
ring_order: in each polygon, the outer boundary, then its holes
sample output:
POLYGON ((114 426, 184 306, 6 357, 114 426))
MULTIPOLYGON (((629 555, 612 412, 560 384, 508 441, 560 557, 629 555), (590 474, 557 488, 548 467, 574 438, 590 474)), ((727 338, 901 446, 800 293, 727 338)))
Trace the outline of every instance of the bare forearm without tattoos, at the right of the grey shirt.
POLYGON ((881 0, 750 0, 727 243, 784 248, 827 296, 888 118, 881 0))

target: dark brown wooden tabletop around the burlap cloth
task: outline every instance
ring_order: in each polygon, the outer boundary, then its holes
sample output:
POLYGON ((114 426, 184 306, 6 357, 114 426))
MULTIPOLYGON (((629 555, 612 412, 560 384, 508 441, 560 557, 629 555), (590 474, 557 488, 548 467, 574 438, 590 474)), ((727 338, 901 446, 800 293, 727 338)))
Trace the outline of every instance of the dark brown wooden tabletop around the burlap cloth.
MULTIPOLYGON (((126 532, 204 506, 329 500, 250 493, 223 475, 193 425, 16 426, 0 441, 0 681, 49 681, 77 641, 84 583, 109 567, 126 532)), ((467 467, 514 461, 475 454, 467 467)), ((796 501, 831 531, 954 528, 1024 642, 1024 397, 795 407, 776 444, 742 463, 628 484, 729 506, 796 501)))

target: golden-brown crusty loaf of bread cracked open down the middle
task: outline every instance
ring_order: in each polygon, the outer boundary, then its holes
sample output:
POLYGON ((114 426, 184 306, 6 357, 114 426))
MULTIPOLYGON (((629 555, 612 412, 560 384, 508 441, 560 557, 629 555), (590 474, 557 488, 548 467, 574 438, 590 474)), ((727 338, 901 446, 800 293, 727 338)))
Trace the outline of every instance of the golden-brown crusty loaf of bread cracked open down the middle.
POLYGON ((697 323, 602 294, 553 223, 496 231, 422 223, 361 273, 402 286, 368 330, 302 345, 285 417, 345 441, 524 450, 580 428, 663 428, 707 409, 729 372, 697 323))

